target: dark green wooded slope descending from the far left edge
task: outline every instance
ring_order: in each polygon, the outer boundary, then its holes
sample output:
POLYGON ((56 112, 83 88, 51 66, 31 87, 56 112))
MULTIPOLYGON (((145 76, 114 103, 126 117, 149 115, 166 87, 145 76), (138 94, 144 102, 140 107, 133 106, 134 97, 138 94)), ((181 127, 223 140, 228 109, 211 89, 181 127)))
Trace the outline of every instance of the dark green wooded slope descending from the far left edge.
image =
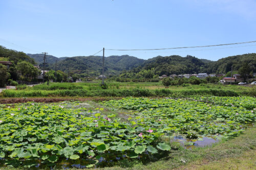
POLYGON ((31 64, 35 64, 35 60, 30 58, 25 53, 17 52, 15 50, 9 50, 1 45, 0 45, 0 57, 5 58, 5 60, 11 61, 14 64, 17 64, 18 62, 22 62, 22 61, 27 61, 27 62, 30 62, 31 64))

